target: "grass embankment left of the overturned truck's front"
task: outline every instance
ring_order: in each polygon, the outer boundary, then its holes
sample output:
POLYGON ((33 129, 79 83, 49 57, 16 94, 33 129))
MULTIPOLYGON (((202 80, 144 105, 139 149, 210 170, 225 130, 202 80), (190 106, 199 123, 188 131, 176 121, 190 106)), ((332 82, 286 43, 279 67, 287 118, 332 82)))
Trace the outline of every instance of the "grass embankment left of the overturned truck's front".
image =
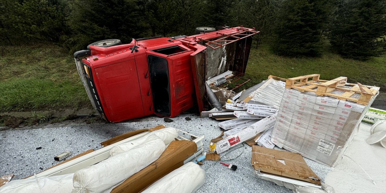
POLYGON ((73 58, 59 46, 0 47, 0 112, 91 107, 73 58))

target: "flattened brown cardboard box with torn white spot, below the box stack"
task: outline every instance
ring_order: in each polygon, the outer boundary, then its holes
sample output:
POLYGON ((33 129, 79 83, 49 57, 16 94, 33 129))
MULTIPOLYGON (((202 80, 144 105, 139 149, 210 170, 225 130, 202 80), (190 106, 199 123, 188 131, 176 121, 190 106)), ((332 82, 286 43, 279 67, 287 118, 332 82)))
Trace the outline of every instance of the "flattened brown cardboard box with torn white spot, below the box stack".
POLYGON ((321 185, 320 178, 297 153, 252 146, 252 165, 256 171, 321 185))

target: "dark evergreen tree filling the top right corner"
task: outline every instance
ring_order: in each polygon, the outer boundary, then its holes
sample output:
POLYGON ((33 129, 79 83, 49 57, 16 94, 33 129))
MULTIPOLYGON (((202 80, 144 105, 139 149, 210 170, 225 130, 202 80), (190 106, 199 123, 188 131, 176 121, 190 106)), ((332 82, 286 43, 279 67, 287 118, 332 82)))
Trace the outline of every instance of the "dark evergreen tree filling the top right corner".
POLYGON ((346 58, 367 60, 386 51, 386 1, 341 0, 330 42, 346 58))

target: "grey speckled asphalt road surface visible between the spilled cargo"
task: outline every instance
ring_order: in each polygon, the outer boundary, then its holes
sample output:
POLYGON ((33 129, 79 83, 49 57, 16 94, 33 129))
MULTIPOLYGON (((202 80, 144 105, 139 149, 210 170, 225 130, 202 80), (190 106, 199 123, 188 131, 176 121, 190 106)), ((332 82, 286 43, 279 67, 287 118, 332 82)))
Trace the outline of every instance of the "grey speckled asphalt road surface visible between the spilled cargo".
MULTIPOLYGON (((58 164, 54 156, 71 151, 77 155, 88 149, 99 149, 99 144, 107 139, 137 129, 151 128, 160 124, 184 130, 194 135, 205 135, 204 150, 208 150, 209 141, 217 137, 221 131, 218 121, 203 118, 194 114, 183 114, 173 118, 173 122, 166 123, 163 118, 147 117, 119 124, 84 124, 78 122, 64 122, 60 127, 38 129, 13 129, 0 131, 0 176, 14 174, 15 179, 24 178, 58 164), (187 121, 185 117, 192 120, 187 121), (41 147, 41 149, 39 148, 41 147)), ((214 161, 204 161, 201 168, 206 172, 205 184, 198 193, 214 192, 277 192, 291 193, 292 191, 277 186, 272 182, 257 178, 251 166, 251 147, 241 147, 232 151, 222 160, 232 159, 227 163, 237 165, 236 171, 214 161)), ((223 153, 225 154, 225 153, 223 153)), ((222 156, 223 154, 220 154, 222 156)), ((331 168, 305 159, 315 173, 324 180, 331 168)))

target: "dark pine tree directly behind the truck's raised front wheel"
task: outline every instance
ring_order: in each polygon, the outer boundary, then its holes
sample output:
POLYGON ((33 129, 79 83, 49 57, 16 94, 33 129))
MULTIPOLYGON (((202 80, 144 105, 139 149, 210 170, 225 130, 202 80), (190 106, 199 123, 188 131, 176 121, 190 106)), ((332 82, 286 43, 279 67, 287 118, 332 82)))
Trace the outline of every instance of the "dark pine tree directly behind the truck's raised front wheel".
POLYGON ((68 47, 74 51, 104 39, 147 37, 149 25, 139 0, 74 0, 68 25, 73 31, 68 47))

